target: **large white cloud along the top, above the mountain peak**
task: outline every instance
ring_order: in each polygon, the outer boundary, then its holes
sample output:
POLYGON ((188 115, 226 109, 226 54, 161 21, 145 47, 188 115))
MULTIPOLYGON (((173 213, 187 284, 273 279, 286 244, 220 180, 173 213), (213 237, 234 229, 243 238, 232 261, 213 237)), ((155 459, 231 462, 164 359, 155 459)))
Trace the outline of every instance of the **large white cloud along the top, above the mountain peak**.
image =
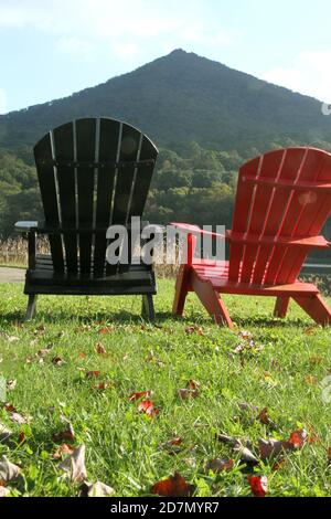
POLYGON ((57 49, 85 55, 104 44, 120 59, 184 46, 214 51, 232 42, 204 0, 0 0, 0 28, 33 28, 53 34, 57 49), (199 20, 199 22, 196 22, 199 20))

